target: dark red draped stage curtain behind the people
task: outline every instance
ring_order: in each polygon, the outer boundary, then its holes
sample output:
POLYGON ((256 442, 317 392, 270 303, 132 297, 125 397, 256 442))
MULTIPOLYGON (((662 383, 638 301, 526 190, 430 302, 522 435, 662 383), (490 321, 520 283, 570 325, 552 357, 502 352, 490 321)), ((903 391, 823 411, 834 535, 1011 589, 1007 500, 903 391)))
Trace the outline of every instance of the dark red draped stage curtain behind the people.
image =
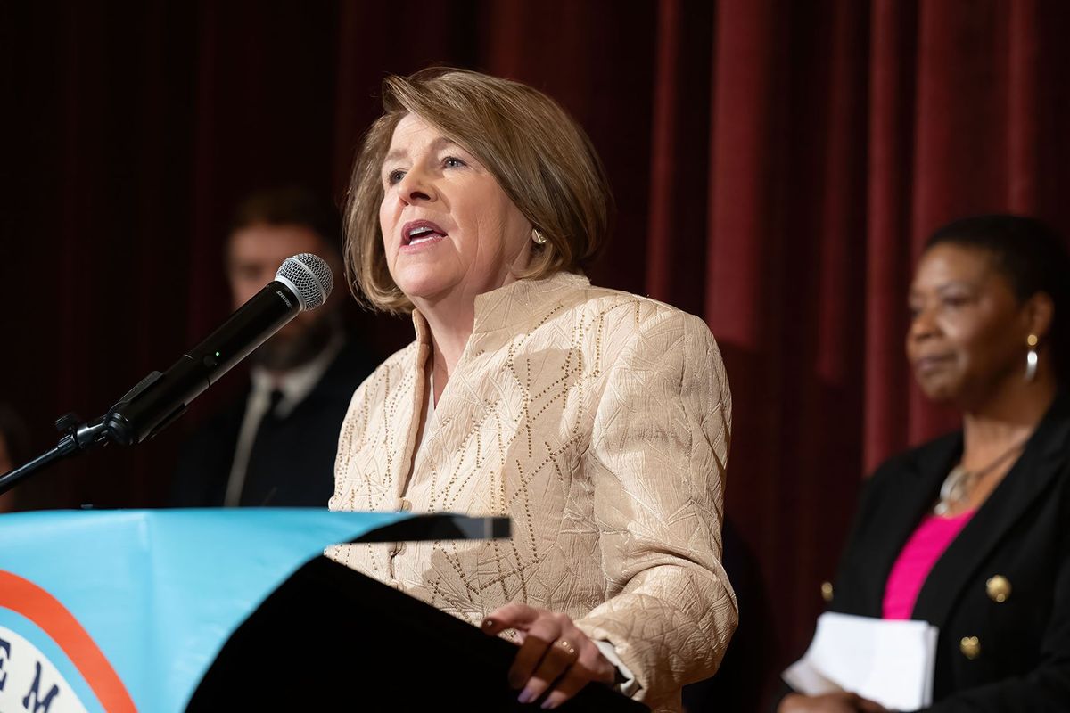
MULTIPOLYGON (((1070 232, 1068 36, 1058 0, 3 3, 0 401, 41 451, 56 416, 98 415, 202 338, 229 313, 234 202, 280 183, 340 201, 384 74, 529 82, 612 181, 594 281, 702 314, 724 352, 728 517, 756 572, 740 641, 769 680, 810 635, 860 478, 954 424, 902 356, 926 234, 989 211, 1070 232)), ((355 321, 380 354, 409 339, 355 321)), ((15 505, 160 505, 184 432, 240 381, 15 505)))

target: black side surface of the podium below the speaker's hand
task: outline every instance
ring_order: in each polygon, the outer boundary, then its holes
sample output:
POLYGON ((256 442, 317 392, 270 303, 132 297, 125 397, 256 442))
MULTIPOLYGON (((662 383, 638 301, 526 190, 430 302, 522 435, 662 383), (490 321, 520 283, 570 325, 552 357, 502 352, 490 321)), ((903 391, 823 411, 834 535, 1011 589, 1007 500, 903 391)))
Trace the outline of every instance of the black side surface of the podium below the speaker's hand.
MULTIPOLYGON (((231 636, 187 711, 530 711, 517 647, 325 557, 231 636)), ((590 684, 563 711, 647 711, 590 684)))

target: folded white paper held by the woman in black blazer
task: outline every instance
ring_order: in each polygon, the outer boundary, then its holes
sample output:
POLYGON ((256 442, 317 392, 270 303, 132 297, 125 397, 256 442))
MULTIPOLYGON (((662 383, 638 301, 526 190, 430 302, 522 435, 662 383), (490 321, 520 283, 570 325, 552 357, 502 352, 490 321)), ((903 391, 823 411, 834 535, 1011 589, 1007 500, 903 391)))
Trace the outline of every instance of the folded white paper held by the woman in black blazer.
POLYGON ((783 672, 795 691, 851 691, 891 711, 932 703, 938 631, 926 621, 888 621, 826 611, 810 648, 783 672))

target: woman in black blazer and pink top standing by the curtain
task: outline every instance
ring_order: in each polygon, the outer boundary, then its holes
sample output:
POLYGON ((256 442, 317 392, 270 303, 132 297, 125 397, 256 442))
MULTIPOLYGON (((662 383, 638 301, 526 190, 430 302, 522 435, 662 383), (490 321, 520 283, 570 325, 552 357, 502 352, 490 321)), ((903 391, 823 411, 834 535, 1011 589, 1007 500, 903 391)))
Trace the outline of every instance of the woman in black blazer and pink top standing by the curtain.
MULTIPOLYGON (((930 711, 1070 711, 1068 291, 1063 241, 1027 218, 950 223, 918 264, 907 356, 963 429, 867 483, 829 608, 882 617, 897 595, 901 608, 901 582, 888 584, 904 547, 908 559, 924 522, 963 518, 906 600, 939 629, 930 711)), ((843 693, 790 694, 778 710, 883 709, 843 693)))

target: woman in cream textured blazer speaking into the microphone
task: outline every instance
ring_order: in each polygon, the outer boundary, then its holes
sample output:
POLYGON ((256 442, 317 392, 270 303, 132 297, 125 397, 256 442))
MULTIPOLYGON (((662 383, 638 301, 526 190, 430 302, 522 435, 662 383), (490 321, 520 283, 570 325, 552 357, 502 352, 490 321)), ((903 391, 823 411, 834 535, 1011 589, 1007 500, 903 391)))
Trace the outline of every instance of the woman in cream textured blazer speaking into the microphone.
POLYGON ((432 68, 383 86, 347 268, 415 341, 355 392, 335 510, 507 515, 509 540, 339 545, 348 564, 520 647, 551 708, 590 681, 657 710, 736 624, 721 567, 731 397, 696 316, 593 286, 605 171, 553 100, 432 68))

